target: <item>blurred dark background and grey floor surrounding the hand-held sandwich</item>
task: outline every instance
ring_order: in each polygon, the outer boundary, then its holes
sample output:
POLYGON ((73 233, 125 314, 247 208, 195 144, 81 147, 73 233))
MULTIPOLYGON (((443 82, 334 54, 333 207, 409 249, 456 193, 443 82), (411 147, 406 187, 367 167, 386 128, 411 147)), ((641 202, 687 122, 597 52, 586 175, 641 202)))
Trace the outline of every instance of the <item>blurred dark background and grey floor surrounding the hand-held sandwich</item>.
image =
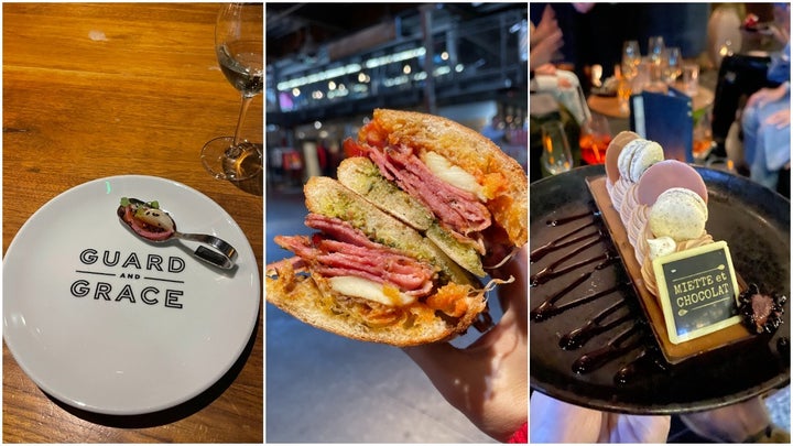
MULTIPOLYGON (((304 182, 335 176, 374 108, 485 131, 525 167, 528 3, 267 3, 265 20, 267 263, 290 254, 274 236, 309 233, 304 182)), ((398 348, 272 305, 265 381, 268 442, 493 442, 398 348)))

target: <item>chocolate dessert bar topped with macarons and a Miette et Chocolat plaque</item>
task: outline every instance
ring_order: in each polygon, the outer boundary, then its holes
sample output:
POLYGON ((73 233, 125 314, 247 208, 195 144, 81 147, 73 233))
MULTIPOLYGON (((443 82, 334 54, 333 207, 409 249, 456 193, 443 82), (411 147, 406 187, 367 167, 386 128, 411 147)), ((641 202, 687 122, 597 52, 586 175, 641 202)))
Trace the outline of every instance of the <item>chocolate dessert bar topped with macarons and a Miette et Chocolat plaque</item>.
MULTIPOLYGON (((706 230, 708 196, 703 178, 685 163, 663 160, 658 143, 632 135, 624 139, 628 142, 616 148, 618 154, 607 157, 607 163, 611 162, 607 175, 611 175, 606 183, 613 185, 606 191, 616 210, 607 222, 611 230, 621 226, 620 239, 615 243, 665 357, 675 362, 746 339, 750 335, 735 316, 740 289, 728 247, 706 230), (656 274, 663 274, 663 280, 656 274), (719 295, 731 297, 698 304, 704 302, 702 298, 710 301, 719 295), (706 335, 719 330, 724 334, 706 340, 706 335), (703 341, 678 347, 697 337, 703 341)), ((596 202, 601 199, 599 194, 593 191, 596 202)), ((600 202, 599 206, 602 209, 608 204, 600 202)), ((759 319, 773 314, 762 309, 771 307, 768 300, 752 301, 760 308, 754 312, 759 319)))

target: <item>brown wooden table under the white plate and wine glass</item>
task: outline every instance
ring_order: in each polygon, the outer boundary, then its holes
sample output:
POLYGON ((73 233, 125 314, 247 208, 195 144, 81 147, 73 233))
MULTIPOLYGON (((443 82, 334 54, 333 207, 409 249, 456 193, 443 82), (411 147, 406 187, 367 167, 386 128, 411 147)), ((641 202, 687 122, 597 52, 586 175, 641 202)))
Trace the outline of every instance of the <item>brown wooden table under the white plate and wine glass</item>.
MULTIPOLYGON (((100 177, 142 174, 184 183, 220 204, 261 269, 261 186, 248 193, 214 180, 199 161, 206 141, 233 133, 239 111, 240 96, 213 48, 218 10, 3 4, 3 253, 58 194, 100 177)), ((263 141, 262 108, 260 96, 246 123, 251 141, 263 141)), ((261 443, 262 338, 260 312, 247 350, 218 383, 172 410, 127 417, 47 398, 3 342, 3 442, 261 443)))

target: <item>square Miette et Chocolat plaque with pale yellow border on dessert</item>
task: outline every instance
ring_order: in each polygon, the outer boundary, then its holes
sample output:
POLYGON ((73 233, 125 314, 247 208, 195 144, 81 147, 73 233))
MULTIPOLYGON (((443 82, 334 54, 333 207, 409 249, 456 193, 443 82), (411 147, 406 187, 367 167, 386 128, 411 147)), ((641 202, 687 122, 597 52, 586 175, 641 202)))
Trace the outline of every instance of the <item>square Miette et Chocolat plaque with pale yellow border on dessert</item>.
POLYGON ((738 281, 726 241, 656 258, 653 270, 672 344, 740 323, 738 281))

